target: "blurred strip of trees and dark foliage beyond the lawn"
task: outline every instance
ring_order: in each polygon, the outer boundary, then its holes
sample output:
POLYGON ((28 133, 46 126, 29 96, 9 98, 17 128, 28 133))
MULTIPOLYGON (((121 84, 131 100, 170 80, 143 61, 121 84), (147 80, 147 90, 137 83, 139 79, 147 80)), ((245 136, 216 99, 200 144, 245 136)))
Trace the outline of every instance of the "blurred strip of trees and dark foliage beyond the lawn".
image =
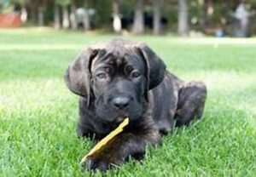
POLYGON ((0 0, 0 28, 251 37, 255 10, 256 0, 0 0))

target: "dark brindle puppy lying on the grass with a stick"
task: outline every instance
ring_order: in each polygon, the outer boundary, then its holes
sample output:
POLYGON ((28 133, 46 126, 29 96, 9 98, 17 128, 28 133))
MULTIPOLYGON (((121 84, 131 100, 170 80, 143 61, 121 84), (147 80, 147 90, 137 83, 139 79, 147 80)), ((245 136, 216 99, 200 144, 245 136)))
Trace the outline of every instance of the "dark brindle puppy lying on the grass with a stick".
POLYGON ((101 171, 127 157, 143 157, 145 147, 158 145, 161 135, 201 118, 207 97, 204 83, 183 82, 147 45, 125 40, 86 49, 67 69, 65 81, 80 96, 79 136, 100 140, 130 119, 84 164, 101 171))

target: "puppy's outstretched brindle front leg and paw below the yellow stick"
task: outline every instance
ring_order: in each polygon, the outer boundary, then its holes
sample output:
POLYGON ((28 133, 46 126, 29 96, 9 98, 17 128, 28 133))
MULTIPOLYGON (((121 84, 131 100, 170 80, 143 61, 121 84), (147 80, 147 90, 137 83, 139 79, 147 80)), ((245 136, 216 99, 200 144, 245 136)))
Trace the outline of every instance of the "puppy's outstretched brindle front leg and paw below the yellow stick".
POLYGON ((82 164, 90 170, 106 171, 119 165, 129 156, 137 157, 145 153, 146 146, 160 143, 160 134, 154 128, 126 130, 116 135, 108 144, 89 157, 82 164))

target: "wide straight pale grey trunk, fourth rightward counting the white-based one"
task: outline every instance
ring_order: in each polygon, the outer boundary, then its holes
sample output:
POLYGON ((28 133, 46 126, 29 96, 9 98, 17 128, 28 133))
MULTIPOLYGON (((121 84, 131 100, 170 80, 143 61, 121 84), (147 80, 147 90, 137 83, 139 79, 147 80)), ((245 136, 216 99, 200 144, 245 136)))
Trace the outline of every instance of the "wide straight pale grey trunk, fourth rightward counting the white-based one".
POLYGON ((188 0, 178 0, 178 29, 180 36, 188 36, 188 0))

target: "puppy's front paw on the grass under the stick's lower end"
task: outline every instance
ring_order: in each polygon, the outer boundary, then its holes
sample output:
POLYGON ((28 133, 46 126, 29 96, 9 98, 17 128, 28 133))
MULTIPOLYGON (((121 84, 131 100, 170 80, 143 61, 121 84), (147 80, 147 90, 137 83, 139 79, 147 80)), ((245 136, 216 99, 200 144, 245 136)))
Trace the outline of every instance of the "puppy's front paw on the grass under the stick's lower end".
POLYGON ((87 168, 91 171, 101 171, 105 172, 108 168, 119 165, 119 160, 114 160, 114 157, 111 157, 110 154, 100 155, 91 155, 87 157, 86 161, 80 163, 82 168, 87 168))

